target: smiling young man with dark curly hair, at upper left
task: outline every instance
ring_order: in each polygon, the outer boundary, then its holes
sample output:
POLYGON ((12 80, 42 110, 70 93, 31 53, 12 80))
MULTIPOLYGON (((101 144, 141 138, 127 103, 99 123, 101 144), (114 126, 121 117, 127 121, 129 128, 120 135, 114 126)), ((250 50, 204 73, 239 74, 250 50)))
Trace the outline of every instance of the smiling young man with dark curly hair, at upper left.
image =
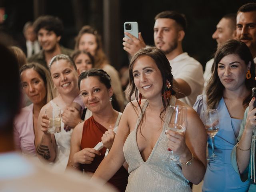
POLYGON ((64 27, 58 17, 50 15, 40 16, 33 26, 42 50, 28 58, 28 62, 37 62, 48 68, 52 57, 58 54, 70 56, 72 50, 64 48, 59 44, 64 27))

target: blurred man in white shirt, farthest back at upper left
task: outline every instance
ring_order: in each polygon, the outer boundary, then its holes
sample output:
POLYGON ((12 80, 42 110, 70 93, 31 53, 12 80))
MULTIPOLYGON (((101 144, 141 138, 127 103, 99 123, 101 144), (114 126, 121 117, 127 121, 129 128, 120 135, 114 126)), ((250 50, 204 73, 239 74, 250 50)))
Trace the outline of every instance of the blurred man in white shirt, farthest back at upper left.
POLYGON ((34 31, 33 23, 28 21, 24 25, 23 34, 26 38, 26 56, 27 58, 40 52, 40 44, 36 39, 36 32, 34 31))

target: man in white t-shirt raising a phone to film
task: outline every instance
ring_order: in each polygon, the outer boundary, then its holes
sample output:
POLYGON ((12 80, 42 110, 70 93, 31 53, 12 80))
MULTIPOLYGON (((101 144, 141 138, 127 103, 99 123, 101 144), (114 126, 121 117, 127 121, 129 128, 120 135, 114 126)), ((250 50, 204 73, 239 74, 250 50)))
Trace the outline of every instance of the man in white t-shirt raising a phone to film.
MULTIPOLYGON (((154 43, 162 50, 172 66, 176 97, 190 106, 194 105, 196 97, 202 93, 204 78, 202 65, 188 53, 182 50, 182 40, 185 36, 186 18, 175 11, 160 12, 155 17, 154 43)), ((141 33, 139 38, 125 33, 129 38, 123 38, 124 50, 133 55, 145 47, 141 33)))

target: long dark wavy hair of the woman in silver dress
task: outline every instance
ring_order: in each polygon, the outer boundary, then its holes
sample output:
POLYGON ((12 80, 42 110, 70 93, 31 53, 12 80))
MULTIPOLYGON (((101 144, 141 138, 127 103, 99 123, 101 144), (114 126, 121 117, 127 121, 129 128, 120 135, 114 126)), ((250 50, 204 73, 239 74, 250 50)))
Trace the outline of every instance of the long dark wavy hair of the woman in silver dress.
MULTIPOLYGON (((136 54, 134 54, 134 56, 132 57, 131 62, 130 62, 130 66, 129 66, 129 84, 130 84, 129 100, 130 100, 130 102, 132 101, 131 97, 135 92, 136 101, 138 103, 138 106, 140 106, 139 102, 138 102, 138 89, 136 88, 136 86, 134 84, 134 77, 132 75, 132 69, 134 67, 134 63, 140 56, 149 56, 150 58, 152 58, 154 60, 154 62, 156 63, 158 69, 160 70, 162 79, 163 79, 163 86, 162 86, 162 91, 161 91, 162 95, 164 95, 167 80, 171 84, 171 88, 170 88, 171 95, 175 95, 176 92, 175 92, 174 86, 173 86, 172 67, 170 66, 170 63, 169 63, 168 59, 166 58, 164 52, 162 52, 160 49, 155 48, 155 47, 147 47, 147 48, 142 48, 138 52, 136 52, 136 54)), ((164 109, 160 113, 161 119, 162 119, 163 112, 165 112, 165 110, 166 110, 166 101, 168 102, 168 104, 170 104, 170 98, 165 100, 162 97, 162 103, 163 103, 164 109)), ((140 108, 140 110, 142 112, 141 108, 140 108)))

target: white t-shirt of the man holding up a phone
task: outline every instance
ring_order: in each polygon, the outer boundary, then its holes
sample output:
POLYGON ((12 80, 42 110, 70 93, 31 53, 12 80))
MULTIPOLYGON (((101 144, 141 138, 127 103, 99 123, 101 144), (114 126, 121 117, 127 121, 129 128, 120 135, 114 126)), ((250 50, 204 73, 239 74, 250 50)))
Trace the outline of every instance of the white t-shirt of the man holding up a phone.
POLYGON ((182 79, 191 88, 191 94, 184 98, 180 98, 182 102, 193 106, 196 102, 196 97, 202 94, 204 87, 204 77, 202 65, 184 52, 174 59, 169 60, 172 67, 172 75, 174 79, 182 79))

